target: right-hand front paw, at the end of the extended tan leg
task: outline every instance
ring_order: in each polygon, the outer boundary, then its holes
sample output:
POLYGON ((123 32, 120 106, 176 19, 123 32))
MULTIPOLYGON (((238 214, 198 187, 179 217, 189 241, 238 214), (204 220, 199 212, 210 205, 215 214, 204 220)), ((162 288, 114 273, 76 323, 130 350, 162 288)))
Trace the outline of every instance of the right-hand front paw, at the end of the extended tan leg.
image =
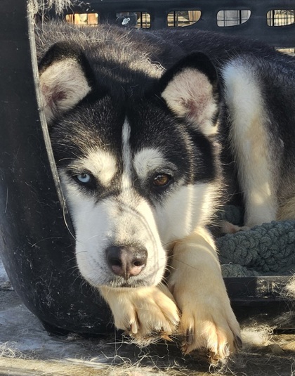
POLYGON ((232 352, 240 349, 240 326, 228 302, 216 297, 207 297, 208 302, 193 302, 183 305, 179 333, 183 336, 183 352, 208 349, 212 363, 224 361, 232 352))

